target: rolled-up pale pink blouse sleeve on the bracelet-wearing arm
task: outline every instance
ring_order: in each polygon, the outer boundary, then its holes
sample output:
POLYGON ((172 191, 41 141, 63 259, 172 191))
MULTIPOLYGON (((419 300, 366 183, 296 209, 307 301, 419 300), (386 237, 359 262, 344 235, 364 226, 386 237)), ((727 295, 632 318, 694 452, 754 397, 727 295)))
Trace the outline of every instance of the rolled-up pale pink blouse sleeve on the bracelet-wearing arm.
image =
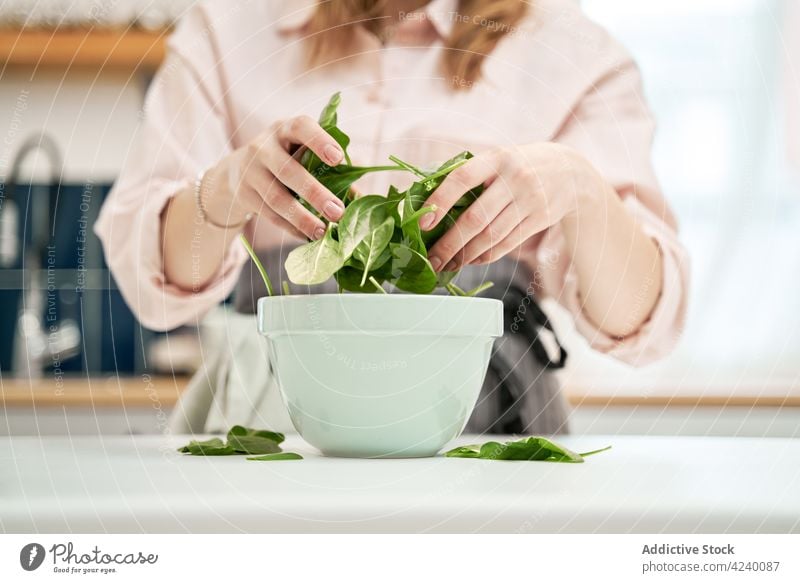
POLYGON ((231 293, 246 260, 233 242, 219 272, 202 287, 180 289, 164 276, 162 210, 231 150, 224 91, 202 19, 193 11, 171 37, 131 152, 94 226, 122 296, 154 330, 196 322, 231 293))

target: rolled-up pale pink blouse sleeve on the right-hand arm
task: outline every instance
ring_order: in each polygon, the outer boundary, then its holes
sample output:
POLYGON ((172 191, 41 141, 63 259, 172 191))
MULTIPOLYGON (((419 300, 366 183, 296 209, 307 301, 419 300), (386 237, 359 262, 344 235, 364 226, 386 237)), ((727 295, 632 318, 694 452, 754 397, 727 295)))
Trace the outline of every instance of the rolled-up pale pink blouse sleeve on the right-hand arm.
MULTIPOLYGON (((577 330, 595 350, 633 365, 650 363, 672 350, 686 317, 689 285, 688 256, 678 240, 677 223, 650 160, 653 132, 654 122, 644 103, 639 72, 628 60, 609 69, 593 84, 555 138, 586 156, 658 246, 663 259, 662 289, 641 327, 624 338, 616 338, 594 325, 582 310, 577 276, 564 257, 561 230, 550 229, 540 247, 540 260, 551 258, 556 267, 543 271, 545 294, 555 297, 571 312, 577 330)), ((632 305, 630 309, 634 312, 639 308, 632 305)))

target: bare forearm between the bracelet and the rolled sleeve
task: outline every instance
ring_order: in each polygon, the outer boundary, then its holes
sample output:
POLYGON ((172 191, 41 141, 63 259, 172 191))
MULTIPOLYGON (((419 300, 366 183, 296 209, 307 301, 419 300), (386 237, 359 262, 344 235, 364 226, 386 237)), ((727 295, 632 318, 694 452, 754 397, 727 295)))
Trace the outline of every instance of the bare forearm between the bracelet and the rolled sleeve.
POLYGON ((219 272, 229 245, 240 231, 221 229, 204 221, 193 187, 176 194, 161 214, 167 282, 187 291, 203 288, 219 272))

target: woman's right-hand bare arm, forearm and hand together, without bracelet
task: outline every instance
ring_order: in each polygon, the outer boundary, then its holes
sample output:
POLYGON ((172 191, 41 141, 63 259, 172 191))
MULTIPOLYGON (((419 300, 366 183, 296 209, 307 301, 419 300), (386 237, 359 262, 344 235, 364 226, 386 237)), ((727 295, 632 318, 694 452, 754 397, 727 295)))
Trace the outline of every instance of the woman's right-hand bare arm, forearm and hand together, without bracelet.
POLYGON ((479 184, 486 190, 430 250, 434 269, 495 261, 560 223, 586 317, 616 338, 647 321, 663 285, 661 253, 588 160, 557 144, 476 156, 430 196, 438 210, 420 224, 435 226, 479 184))

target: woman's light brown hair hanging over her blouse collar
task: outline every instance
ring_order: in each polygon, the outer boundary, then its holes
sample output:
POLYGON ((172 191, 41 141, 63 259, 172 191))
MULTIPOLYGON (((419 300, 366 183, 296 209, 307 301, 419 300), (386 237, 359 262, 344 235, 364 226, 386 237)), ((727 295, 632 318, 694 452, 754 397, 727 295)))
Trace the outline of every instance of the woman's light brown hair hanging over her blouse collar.
MULTIPOLYGON (((322 65, 352 54, 353 28, 362 26, 381 35, 386 26, 388 0, 321 0, 308 26, 309 66, 322 65)), ((466 88, 480 78, 483 60, 497 43, 514 31, 525 15, 525 0, 460 0, 450 37, 445 39, 441 68, 466 88)))

